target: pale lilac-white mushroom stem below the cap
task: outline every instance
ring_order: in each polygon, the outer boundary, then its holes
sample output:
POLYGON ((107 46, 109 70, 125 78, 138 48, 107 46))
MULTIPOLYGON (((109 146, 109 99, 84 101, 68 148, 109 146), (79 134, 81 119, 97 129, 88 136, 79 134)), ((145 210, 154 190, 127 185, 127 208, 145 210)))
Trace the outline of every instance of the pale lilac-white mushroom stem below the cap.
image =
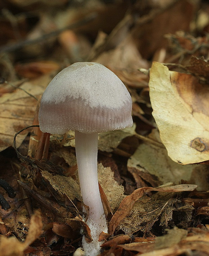
POLYGON ((81 133, 75 131, 76 158, 78 164, 81 194, 85 205, 89 206, 87 224, 91 230, 93 241, 83 247, 86 255, 94 256, 99 253, 99 234, 107 232, 107 223, 101 202, 97 175, 98 133, 81 133))

